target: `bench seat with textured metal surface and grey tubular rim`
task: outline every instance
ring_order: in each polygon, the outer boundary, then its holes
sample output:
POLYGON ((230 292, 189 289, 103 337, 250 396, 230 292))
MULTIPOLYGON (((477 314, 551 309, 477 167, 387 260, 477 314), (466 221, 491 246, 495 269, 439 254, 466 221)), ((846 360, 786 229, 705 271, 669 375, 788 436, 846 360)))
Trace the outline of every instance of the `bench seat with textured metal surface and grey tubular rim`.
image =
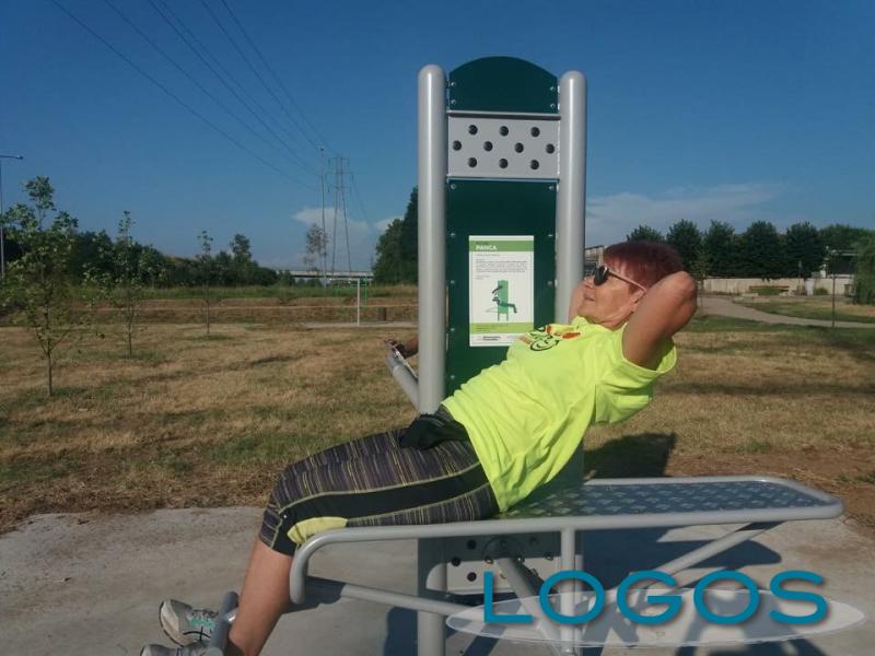
POLYGON ((840 515, 842 508, 841 501, 830 494, 769 477, 591 480, 535 492, 506 513, 481 522, 325 531, 307 540, 295 554, 291 598, 294 602, 304 600, 307 563, 316 551, 331 543, 718 524, 771 526, 828 519, 840 515))

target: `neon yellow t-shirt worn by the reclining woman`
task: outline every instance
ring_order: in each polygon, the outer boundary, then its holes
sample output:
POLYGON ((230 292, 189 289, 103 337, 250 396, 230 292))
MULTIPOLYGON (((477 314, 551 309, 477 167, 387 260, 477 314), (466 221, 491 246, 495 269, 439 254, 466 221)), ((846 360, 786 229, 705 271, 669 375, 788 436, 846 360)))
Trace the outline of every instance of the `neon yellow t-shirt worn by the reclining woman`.
POLYGON ((655 370, 629 362, 623 329, 575 317, 527 332, 501 364, 444 401, 468 431, 502 511, 559 473, 592 424, 646 406, 653 382, 675 366, 674 345, 655 370))

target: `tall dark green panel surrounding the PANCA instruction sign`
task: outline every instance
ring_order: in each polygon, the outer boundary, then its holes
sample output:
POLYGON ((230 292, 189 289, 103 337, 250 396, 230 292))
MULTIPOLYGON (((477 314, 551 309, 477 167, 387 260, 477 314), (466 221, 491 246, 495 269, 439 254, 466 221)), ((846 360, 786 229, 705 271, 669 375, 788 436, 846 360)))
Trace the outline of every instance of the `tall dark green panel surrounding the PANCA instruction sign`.
POLYGON ((534 236, 535 326, 553 320, 556 183, 450 178, 446 195, 446 281, 450 293, 445 379, 450 396, 481 370, 501 362, 508 352, 508 347, 469 345, 469 236, 534 236))

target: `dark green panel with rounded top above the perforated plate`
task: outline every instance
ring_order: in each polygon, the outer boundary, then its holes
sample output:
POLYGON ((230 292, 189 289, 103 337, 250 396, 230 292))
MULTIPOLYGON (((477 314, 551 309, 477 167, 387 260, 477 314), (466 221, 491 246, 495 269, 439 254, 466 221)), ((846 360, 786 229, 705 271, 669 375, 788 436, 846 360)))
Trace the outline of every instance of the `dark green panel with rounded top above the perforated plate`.
POLYGON ((450 73, 451 112, 557 114, 559 82, 529 61, 485 57, 450 73))

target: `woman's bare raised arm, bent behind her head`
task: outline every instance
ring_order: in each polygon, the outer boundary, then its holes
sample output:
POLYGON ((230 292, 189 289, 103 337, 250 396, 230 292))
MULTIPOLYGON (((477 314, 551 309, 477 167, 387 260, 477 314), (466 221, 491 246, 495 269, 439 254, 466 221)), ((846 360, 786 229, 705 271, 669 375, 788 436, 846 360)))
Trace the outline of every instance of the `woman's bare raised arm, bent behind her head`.
POLYGON ((666 276, 641 298, 622 336, 622 354, 630 362, 655 368, 672 336, 696 312, 696 281, 686 271, 666 276))

